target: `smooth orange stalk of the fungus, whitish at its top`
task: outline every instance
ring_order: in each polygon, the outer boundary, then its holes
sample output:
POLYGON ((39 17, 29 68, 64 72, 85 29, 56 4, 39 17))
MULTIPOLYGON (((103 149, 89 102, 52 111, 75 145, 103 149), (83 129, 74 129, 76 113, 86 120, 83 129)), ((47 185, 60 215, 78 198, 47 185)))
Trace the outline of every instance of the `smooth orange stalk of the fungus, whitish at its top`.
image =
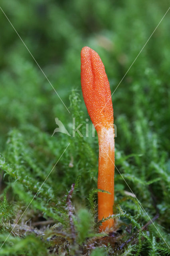
MULTIPOLYGON (((106 192, 98 192, 98 218, 102 220, 113 215, 114 204, 114 172, 115 172, 115 141, 114 129, 100 128, 97 130, 99 139, 99 174, 97 188, 106 192)), ((106 220, 99 227, 101 231, 113 228, 113 218, 106 220)))

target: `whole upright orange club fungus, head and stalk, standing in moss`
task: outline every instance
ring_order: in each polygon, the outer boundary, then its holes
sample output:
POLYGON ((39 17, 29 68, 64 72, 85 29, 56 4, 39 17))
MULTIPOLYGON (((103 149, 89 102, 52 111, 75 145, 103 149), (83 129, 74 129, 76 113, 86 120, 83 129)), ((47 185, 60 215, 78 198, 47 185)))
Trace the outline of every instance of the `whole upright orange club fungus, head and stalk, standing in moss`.
MULTIPOLYGON (((87 111, 95 126, 99 140, 98 218, 113 214, 115 142, 111 90, 101 58, 91 48, 81 50, 81 88, 87 111), (105 106, 105 104, 107 105, 105 106)), ((113 219, 106 220, 100 231, 112 228, 113 219)))

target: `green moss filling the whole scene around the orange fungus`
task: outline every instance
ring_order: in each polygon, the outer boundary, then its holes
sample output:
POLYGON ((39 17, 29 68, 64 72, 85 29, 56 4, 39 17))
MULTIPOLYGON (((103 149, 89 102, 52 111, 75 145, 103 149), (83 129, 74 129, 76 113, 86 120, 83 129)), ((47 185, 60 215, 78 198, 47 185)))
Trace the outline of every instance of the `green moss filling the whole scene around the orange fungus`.
POLYGON ((8 237, 0 255, 168 255, 169 12, 122 80, 168 2, 2 0, 1 8, 70 113, 0 10, 1 244, 8 237), (86 45, 101 56, 111 92, 122 80, 112 97, 117 169, 109 236, 98 233, 98 140, 81 93, 86 45), (83 137, 52 136, 55 117, 71 135, 75 118, 83 137))

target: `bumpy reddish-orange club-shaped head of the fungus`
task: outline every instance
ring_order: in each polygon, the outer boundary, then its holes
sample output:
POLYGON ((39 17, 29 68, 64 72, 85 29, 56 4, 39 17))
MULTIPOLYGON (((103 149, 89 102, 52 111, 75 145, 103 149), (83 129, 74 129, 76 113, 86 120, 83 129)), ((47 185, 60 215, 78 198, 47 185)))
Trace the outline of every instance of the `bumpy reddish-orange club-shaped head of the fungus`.
POLYGON ((93 125, 112 127, 113 106, 105 66, 99 54, 87 46, 81 50, 81 88, 93 125))

